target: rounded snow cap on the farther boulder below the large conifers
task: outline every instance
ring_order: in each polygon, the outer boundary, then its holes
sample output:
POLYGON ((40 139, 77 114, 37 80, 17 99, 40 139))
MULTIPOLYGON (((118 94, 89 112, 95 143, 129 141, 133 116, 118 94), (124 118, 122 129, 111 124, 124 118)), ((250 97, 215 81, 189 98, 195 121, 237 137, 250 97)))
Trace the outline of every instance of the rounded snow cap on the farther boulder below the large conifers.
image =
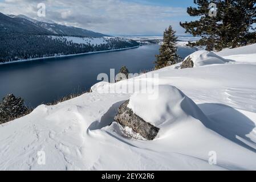
POLYGON ((194 67, 202 67, 210 64, 225 64, 227 62, 224 58, 210 51, 196 51, 184 60, 188 60, 189 57, 193 61, 194 67))

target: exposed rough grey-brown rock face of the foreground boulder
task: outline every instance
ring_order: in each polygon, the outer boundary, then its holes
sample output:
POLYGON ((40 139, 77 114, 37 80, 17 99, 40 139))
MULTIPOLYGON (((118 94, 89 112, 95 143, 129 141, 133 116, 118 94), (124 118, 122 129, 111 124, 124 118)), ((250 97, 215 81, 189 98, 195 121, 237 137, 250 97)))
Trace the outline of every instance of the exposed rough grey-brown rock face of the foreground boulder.
POLYGON ((129 100, 124 102, 124 104, 119 107, 115 121, 120 123, 122 126, 130 127, 133 129, 133 131, 139 133, 145 139, 155 139, 159 133, 159 128, 151 125, 134 114, 133 111, 127 107, 128 104, 129 100))

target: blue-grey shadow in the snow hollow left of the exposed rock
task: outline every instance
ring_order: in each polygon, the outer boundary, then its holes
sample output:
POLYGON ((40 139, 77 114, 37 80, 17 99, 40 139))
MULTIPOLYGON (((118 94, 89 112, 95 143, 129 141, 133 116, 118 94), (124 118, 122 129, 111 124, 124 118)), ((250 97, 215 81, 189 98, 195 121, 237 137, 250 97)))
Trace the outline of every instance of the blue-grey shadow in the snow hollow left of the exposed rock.
POLYGON ((100 130, 103 127, 111 125, 111 123, 114 121, 114 118, 117 114, 118 108, 120 105, 122 105, 125 101, 117 102, 116 104, 113 104, 105 113, 100 121, 95 121, 91 123, 91 125, 88 127, 89 130, 100 130))

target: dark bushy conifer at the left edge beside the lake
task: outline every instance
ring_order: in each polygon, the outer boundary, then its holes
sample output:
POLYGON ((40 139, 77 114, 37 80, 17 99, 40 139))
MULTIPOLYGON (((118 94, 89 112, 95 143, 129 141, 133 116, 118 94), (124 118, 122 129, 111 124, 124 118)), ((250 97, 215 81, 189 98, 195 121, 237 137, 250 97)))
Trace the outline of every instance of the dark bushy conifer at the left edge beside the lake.
POLYGON ((8 94, 0 102, 0 123, 26 115, 28 111, 29 109, 24 105, 24 101, 21 97, 8 94))

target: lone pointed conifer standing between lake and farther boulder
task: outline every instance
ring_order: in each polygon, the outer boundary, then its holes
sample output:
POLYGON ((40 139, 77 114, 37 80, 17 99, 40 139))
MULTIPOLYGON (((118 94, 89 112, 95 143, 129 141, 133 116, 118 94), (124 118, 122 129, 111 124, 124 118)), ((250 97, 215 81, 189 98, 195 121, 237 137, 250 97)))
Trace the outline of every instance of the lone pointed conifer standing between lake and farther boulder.
POLYGON ((165 30, 164 40, 160 47, 160 54, 156 55, 156 69, 161 69, 169 65, 178 63, 180 56, 177 54, 177 36, 176 32, 172 29, 172 26, 165 30))

